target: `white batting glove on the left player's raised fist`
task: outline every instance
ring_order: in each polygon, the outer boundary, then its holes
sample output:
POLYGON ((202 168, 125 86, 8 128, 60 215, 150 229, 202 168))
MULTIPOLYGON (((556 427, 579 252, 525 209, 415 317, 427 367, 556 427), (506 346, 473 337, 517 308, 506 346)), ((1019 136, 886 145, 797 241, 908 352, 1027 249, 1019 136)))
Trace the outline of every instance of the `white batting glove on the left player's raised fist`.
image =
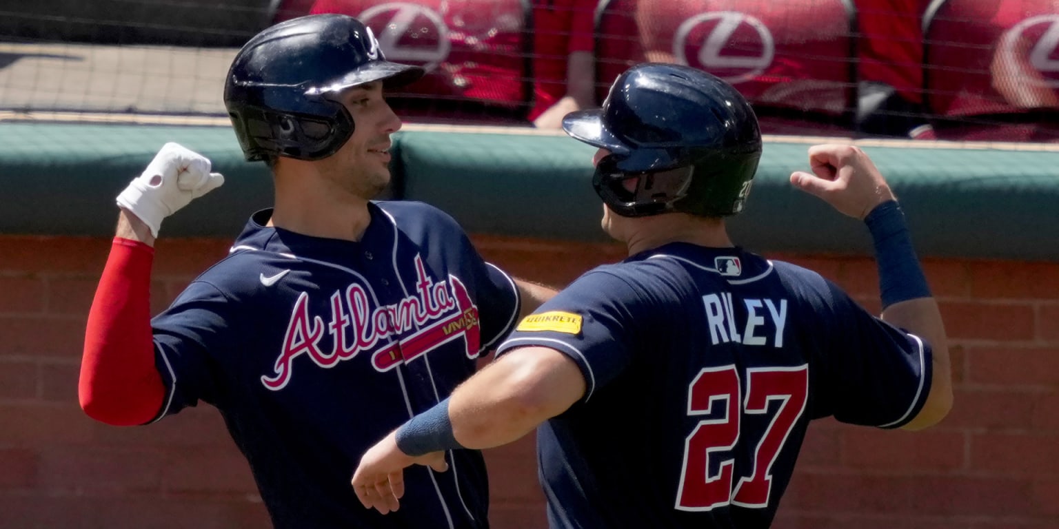
POLYGON ((223 183, 223 176, 210 172, 209 159, 170 142, 118 196, 118 205, 136 215, 158 237, 162 219, 223 183))

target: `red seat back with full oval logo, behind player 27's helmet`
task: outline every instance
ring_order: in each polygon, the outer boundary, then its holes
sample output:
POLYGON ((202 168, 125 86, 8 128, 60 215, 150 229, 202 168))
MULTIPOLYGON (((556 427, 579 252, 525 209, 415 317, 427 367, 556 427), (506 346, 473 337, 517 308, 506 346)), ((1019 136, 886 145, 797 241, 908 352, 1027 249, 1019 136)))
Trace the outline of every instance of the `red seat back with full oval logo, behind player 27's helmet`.
MULTIPOLYGON (((623 2, 632 3, 632 2, 623 2)), ((852 6, 842 0, 639 0, 635 22, 648 59, 671 60, 734 85, 755 109, 783 107, 841 115, 852 108, 852 6)), ((620 25, 608 5, 603 28, 620 25)), ((625 48, 621 30, 602 36, 602 53, 625 48), (603 42, 614 40, 614 44, 603 42)), ((614 70, 621 57, 600 57, 614 70), (617 59, 617 60, 615 60, 617 59)), ((606 69, 607 67, 603 67, 606 69)), ((612 72, 602 72, 609 77, 612 72)), ((600 77, 600 81, 606 77, 600 77)))

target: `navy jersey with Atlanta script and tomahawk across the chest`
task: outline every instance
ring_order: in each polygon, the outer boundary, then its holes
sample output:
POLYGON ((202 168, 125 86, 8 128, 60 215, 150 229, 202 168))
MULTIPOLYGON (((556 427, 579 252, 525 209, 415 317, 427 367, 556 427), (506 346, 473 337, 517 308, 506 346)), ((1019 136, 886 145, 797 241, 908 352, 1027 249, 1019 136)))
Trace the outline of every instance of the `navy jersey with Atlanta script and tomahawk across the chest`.
POLYGON ((152 321, 168 389, 159 417, 215 405, 279 528, 484 528, 481 454, 405 472, 407 505, 381 515, 349 484, 376 441, 447 397, 509 332, 518 289, 450 217, 369 205, 359 242, 263 225, 152 321))

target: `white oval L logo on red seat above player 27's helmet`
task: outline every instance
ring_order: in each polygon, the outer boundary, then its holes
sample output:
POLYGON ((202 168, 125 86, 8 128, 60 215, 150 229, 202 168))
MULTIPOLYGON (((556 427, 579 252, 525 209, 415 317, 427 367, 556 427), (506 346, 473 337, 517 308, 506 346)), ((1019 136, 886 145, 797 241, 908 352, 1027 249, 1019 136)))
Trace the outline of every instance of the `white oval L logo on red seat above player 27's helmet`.
POLYGON ((677 29, 672 55, 729 83, 750 80, 770 65, 776 45, 759 19, 734 11, 696 15, 677 29))

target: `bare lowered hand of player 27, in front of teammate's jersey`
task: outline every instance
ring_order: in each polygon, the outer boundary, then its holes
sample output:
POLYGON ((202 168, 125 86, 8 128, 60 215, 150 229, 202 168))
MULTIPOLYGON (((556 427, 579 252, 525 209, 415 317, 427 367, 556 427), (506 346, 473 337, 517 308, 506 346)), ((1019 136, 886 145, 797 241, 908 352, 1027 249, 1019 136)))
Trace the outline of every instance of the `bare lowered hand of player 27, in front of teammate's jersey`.
POLYGON ((360 458, 360 464, 353 473, 353 490, 357 499, 366 509, 375 509, 382 514, 400 508, 405 495, 405 469, 413 464, 430 467, 437 472, 449 470, 445 452, 412 457, 397 448, 396 431, 376 443, 360 458))

